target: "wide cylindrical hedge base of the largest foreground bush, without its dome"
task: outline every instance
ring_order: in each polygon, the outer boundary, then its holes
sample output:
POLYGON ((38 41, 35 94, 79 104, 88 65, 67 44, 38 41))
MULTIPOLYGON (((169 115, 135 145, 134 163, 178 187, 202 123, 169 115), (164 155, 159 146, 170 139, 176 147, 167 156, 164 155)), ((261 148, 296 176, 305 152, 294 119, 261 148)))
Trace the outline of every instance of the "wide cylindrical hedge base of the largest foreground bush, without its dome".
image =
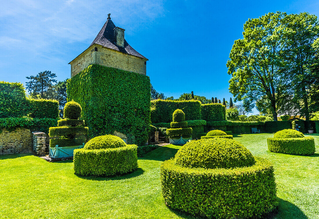
POLYGON ((161 164, 166 205, 208 218, 259 217, 276 208, 274 168, 255 157, 250 167, 234 169, 185 168, 168 160, 161 164))

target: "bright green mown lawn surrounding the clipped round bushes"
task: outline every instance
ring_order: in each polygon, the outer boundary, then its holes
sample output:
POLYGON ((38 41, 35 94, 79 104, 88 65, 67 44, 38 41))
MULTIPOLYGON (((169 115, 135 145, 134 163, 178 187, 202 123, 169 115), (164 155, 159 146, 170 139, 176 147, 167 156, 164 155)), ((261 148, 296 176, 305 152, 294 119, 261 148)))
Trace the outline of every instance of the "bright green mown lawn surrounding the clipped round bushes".
MULTIPOLYGON (((268 218, 319 218, 319 153, 268 152, 272 134, 235 135, 254 155, 274 164, 278 214, 268 218)), ((319 134, 313 134, 319 152, 319 134)), ((0 218, 196 218, 164 204, 159 165, 179 146, 160 147, 122 177, 78 177, 72 161, 49 163, 29 154, 0 156, 0 218)), ((198 218, 198 217, 197 217, 198 218)))

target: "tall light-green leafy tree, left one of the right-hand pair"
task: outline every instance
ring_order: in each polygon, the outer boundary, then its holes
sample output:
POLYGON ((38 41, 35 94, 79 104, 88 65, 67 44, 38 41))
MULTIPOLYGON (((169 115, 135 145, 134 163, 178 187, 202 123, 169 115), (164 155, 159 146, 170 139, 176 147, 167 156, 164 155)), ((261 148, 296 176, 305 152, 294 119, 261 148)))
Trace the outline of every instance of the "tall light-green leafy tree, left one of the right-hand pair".
POLYGON ((277 121, 277 92, 282 84, 283 64, 280 60, 281 19, 286 13, 268 13, 244 24, 243 39, 236 40, 227 62, 229 90, 235 101, 254 103, 262 97, 269 100, 274 121, 277 121))

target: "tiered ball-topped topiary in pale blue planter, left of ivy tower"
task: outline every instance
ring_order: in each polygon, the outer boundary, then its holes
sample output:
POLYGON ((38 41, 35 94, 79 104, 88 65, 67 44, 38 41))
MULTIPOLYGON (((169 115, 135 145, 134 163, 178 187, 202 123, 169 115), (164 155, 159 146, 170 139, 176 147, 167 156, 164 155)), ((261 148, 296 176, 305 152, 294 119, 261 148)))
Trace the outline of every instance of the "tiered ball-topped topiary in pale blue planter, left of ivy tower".
POLYGON ((81 116, 81 106, 77 102, 67 102, 64 106, 64 118, 58 120, 58 127, 49 128, 50 147, 79 146, 85 142, 88 127, 84 127, 81 116), (76 119, 75 119, 76 118, 76 119))

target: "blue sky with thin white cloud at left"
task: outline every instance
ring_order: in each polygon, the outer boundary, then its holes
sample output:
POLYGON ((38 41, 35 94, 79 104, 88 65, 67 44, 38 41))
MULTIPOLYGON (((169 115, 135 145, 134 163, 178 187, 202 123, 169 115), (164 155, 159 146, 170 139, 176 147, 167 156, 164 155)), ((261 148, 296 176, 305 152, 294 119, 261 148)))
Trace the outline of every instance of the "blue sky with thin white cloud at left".
POLYGON ((319 1, 3 1, 0 80, 25 84, 44 70, 58 81, 70 78, 68 63, 111 13, 128 43, 149 59, 146 73, 158 92, 229 100, 226 62, 234 40, 249 18, 276 11, 318 16, 319 1))

